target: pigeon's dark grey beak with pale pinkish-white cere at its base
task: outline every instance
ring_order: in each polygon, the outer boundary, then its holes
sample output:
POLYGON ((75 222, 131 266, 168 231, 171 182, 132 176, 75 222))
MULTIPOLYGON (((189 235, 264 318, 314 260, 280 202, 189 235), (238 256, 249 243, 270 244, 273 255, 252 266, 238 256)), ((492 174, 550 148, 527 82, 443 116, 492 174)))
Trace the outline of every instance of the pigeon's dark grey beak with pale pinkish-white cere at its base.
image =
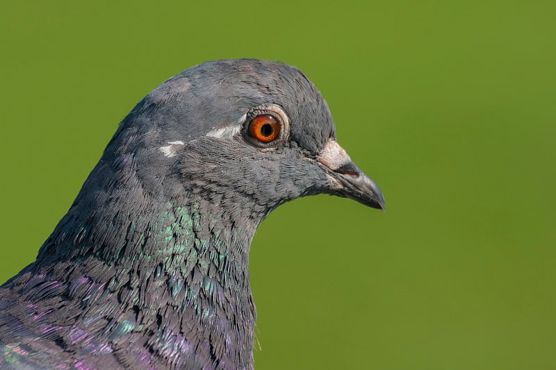
POLYGON ((373 180, 357 167, 345 150, 335 141, 329 141, 322 149, 318 161, 341 184, 332 194, 345 196, 384 212, 384 196, 373 180))

